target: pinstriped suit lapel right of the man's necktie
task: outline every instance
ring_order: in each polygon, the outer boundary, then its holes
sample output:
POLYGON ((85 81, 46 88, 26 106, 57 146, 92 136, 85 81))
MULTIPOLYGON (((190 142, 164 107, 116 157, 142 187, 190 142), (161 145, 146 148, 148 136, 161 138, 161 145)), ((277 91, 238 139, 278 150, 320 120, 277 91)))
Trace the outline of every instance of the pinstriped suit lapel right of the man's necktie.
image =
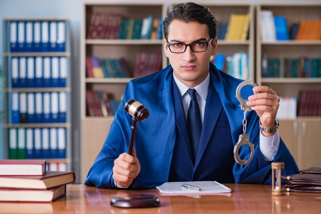
POLYGON ((218 116, 222 111, 222 103, 213 87, 212 81, 209 84, 208 95, 206 98, 205 112, 204 112, 204 120, 202 126, 202 133, 200 134, 198 152, 195 160, 194 172, 197 168, 206 146, 210 140, 210 137, 213 134, 214 127, 216 125, 218 116))

